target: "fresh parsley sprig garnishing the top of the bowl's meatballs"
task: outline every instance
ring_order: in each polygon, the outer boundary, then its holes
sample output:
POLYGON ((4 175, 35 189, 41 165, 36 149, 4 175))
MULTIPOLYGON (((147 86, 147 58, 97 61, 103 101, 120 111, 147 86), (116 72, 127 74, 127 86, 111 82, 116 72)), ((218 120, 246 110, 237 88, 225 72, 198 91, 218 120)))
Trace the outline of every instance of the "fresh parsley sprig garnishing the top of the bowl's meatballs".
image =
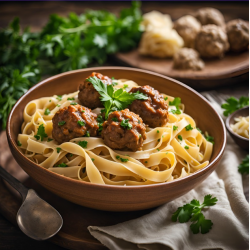
POLYGON ((147 100, 148 97, 140 92, 128 93, 120 88, 115 91, 113 85, 106 85, 96 76, 87 79, 93 84, 94 88, 101 95, 101 101, 105 108, 105 119, 108 118, 110 112, 114 110, 125 109, 134 100, 147 100))

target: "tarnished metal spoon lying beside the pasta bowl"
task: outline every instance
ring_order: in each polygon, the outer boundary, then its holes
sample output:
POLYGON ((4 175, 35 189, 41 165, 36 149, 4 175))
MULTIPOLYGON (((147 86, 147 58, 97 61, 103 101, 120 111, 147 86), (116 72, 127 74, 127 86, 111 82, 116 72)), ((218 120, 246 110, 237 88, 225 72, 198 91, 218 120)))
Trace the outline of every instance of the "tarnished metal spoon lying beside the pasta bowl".
POLYGON ((61 229, 63 219, 55 208, 42 200, 33 189, 27 189, 23 186, 1 166, 0 176, 23 198, 16 218, 19 228, 27 236, 35 240, 47 240, 61 229))

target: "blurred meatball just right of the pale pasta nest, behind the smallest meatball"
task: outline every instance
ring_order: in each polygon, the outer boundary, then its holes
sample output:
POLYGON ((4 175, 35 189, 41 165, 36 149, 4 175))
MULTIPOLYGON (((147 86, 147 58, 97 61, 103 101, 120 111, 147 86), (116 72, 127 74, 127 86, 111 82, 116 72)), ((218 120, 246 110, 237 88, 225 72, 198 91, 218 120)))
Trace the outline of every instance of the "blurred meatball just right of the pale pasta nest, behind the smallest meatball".
POLYGON ((174 24, 174 29, 184 40, 184 46, 188 48, 194 47, 194 40, 200 28, 201 24, 190 15, 179 18, 174 24))

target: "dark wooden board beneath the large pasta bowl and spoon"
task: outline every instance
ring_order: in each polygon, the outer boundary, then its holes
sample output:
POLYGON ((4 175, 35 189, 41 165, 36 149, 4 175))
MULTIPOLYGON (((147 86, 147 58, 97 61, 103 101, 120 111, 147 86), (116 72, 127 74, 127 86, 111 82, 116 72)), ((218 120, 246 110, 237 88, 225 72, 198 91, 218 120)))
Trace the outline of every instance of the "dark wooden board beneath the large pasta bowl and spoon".
MULTIPOLYGON (((49 241, 61 247, 78 250, 103 250, 107 249, 91 236, 87 227, 109 226, 130 219, 138 218, 151 210, 136 212, 105 212, 81 207, 52 194, 34 180, 32 180, 18 166, 7 144, 6 134, 0 135, 1 165, 13 176, 19 179, 26 187, 34 189, 40 197, 55 207, 63 217, 63 227, 60 232, 49 241)), ((16 224, 16 214, 21 205, 21 197, 12 187, 0 178, 0 213, 11 223, 16 224)))

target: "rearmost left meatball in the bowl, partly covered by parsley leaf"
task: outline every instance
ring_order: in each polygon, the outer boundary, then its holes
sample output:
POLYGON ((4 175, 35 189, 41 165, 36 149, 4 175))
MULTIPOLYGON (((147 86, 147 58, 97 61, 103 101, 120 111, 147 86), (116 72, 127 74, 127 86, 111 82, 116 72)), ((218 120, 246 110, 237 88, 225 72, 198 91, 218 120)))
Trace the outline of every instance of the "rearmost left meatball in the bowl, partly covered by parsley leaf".
MULTIPOLYGON (((104 76, 100 73, 93 72, 89 77, 94 77, 101 79, 104 84, 112 84, 112 80, 108 76, 104 76)), ((95 109, 98 107, 103 107, 100 101, 100 94, 95 90, 93 84, 87 79, 87 77, 83 83, 79 86, 78 99, 83 106, 86 106, 91 109, 95 109)))

